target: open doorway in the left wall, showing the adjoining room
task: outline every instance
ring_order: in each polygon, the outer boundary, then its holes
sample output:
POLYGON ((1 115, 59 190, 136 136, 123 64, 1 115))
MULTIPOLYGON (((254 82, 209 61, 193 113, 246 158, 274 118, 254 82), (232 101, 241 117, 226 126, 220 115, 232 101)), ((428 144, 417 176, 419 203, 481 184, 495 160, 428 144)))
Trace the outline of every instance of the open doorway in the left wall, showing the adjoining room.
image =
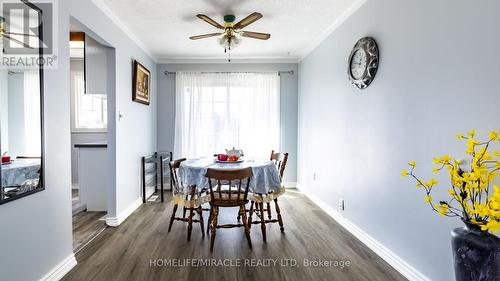
MULTIPOLYGON (((76 254, 107 227, 108 56, 114 49, 70 20, 71 194, 76 254)), ((113 61, 113 60, 111 60, 113 61)), ((114 86, 114 85, 113 85, 114 86)))

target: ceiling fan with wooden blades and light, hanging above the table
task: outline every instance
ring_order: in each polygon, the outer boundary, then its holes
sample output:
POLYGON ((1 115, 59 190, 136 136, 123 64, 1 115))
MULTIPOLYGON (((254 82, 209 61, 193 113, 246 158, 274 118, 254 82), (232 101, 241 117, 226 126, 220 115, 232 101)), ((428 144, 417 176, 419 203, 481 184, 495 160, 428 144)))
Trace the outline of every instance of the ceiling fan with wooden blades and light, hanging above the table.
POLYGON ((224 47, 224 52, 229 51, 229 61, 231 61, 231 49, 234 49, 241 43, 241 37, 248 37, 259 40, 267 40, 271 38, 271 34, 269 33, 242 30, 248 25, 261 19, 262 18, 261 13, 253 12, 237 23, 234 23, 234 21, 236 20, 236 17, 234 15, 225 15, 224 25, 219 24, 218 22, 216 22, 207 15, 198 14, 196 16, 206 21, 208 24, 216 27, 217 29, 220 29, 221 32, 191 36, 189 37, 189 39, 198 40, 198 39, 220 36, 219 44, 222 47, 224 47))

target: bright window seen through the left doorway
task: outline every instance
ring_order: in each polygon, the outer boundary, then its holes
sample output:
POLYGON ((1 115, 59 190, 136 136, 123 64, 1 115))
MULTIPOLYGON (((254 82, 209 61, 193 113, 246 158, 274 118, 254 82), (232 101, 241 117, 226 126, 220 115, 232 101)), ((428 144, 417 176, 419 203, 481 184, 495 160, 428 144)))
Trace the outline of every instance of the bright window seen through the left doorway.
POLYGON ((85 94, 85 79, 82 72, 72 73, 73 130, 106 131, 108 108, 106 95, 85 94))

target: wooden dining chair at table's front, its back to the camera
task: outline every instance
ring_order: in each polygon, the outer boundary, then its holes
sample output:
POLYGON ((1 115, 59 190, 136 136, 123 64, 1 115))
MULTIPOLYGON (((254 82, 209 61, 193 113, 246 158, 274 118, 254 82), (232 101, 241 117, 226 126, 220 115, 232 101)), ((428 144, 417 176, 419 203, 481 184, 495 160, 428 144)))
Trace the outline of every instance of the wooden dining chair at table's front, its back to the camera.
POLYGON ((215 235, 218 228, 243 227, 245 229, 248 245, 252 248, 250 228, 247 224, 247 214, 245 211, 245 205, 248 203, 248 188, 250 186, 251 176, 252 168, 235 170, 209 168, 207 170, 206 177, 208 178, 210 191, 210 251, 213 251, 215 235), (238 207, 243 223, 219 225, 219 208, 226 207, 238 207))

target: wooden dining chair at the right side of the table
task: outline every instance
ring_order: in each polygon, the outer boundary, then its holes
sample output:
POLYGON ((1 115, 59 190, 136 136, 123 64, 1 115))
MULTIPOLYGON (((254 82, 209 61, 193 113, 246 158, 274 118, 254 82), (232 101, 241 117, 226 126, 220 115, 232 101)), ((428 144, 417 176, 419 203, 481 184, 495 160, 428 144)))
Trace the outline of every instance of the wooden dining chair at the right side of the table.
MULTIPOLYGON (((271 151, 270 160, 276 165, 278 173, 280 175, 280 180, 283 182, 283 174, 285 173, 286 163, 288 161, 288 153, 274 152, 271 151)), ((248 216, 248 227, 251 228, 252 224, 260 224, 262 230, 262 239, 266 242, 266 223, 278 223, 281 232, 285 231, 283 226, 283 218, 281 216, 281 209, 278 204, 278 196, 281 190, 278 192, 271 192, 269 194, 254 194, 253 200, 250 202, 250 210, 248 216), (274 201, 274 207, 276 210, 276 219, 272 218, 271 211, 271 201, 274 201), (264 208, 266 204, 266 208, 264 208), (254 207, 255 206, 255 207, 254 207), (265 218, 265 213, 267 212, 267 219, 265 218), (253 214, 256 214, 259 220, 253 221, 253 214)))

